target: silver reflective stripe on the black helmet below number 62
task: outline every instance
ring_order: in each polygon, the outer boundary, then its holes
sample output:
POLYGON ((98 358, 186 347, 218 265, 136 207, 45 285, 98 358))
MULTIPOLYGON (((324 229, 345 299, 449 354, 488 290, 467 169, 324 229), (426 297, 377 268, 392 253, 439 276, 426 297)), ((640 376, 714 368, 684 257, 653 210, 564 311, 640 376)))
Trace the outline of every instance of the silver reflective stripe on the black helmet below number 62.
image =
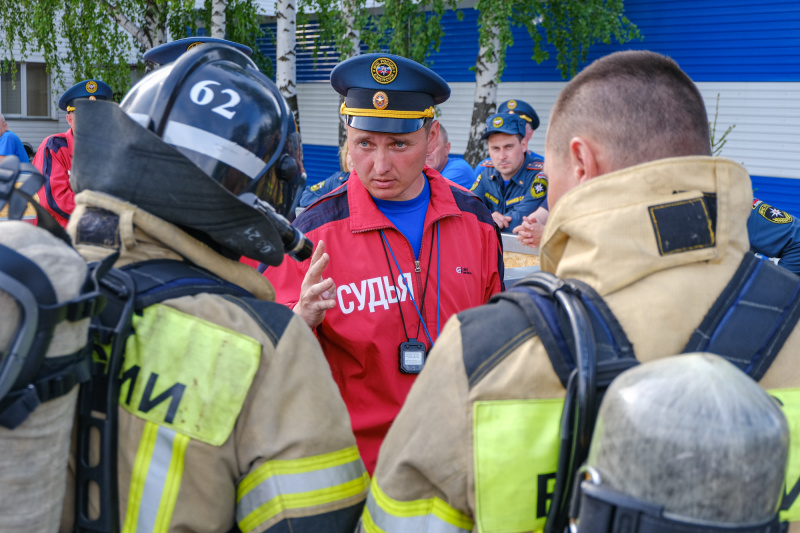
POLYGON ((164 129, 163 140, 167 144, 218 159, 251 179, 258 177, 267 166, 253 152, 238 144, 188 124, 170 120, 164 129))

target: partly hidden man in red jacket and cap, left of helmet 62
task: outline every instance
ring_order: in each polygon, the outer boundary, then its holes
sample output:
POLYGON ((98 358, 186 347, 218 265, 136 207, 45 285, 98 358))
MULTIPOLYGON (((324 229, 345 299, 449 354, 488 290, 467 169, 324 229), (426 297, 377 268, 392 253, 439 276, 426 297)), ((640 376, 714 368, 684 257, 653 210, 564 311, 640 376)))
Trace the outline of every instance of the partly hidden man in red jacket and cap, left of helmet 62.
POLYGON ((39 191, 39 202, 47 209, 59 224, 66 227, 69 215, 75 209, 75 193, 69 184, 72 170, 73 136, 75 100, 110 100, 113 91, 108 84, 100 80, 83 80, 70 87, 58 101, 58 107, 67 112, 69 130, 47 137, 39 149, 33 164, 45 178, 39 191))

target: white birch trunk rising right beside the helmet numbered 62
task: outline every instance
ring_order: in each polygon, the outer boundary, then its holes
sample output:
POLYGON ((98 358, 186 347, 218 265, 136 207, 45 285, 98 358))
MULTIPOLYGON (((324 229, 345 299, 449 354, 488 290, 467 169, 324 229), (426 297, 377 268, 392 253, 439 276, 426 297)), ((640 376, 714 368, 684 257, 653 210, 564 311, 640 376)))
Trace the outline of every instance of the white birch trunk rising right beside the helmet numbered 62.
POLYGON ((277 66, 275 82, 294 113, 300 131, 300 110, 297 108, 297 0, 278 0, 277 66))

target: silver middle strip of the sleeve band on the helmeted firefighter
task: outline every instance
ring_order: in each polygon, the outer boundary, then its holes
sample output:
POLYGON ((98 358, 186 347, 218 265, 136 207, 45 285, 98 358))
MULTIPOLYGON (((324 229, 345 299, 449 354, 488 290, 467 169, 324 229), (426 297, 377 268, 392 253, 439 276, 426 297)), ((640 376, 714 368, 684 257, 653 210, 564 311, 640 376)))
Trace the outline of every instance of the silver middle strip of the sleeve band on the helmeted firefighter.
POLYGON ((361 459, 356 459, 343 465, 302 474, 270 476, 239 500, 236 506, 236 522, 240 523, 250 513, 278 496, 329 489, 359 479, 364 473, 362 464, 361 459))

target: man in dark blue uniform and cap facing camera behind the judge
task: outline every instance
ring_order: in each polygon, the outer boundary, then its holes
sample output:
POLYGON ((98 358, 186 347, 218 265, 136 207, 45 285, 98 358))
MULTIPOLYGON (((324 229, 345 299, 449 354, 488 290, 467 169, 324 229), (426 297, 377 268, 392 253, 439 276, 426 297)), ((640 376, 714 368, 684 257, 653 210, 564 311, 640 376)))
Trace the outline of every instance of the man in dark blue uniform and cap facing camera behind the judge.
POLYGON ((499 113, 486 120, 486 140, 492 166, 484 168, 472 192, 492 211, 504 232, 522 224, 523 217, 546 206, 547 179, 540 174, 541 160, 526 154, 525 121, 517 115, 499 113))

